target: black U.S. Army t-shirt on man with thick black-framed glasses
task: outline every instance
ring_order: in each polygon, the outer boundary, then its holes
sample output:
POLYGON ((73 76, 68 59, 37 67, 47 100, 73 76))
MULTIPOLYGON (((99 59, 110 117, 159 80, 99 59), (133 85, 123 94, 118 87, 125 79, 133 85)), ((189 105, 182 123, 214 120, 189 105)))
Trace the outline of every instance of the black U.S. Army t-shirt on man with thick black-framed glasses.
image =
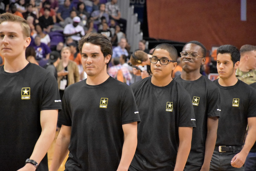
POLYGON ((188 92, 172 80, 158 87, 147 77, 131 85, 141 123, 131 166, 137 170, 173 170, 179 145, 179 127, 195 127, 188 92))

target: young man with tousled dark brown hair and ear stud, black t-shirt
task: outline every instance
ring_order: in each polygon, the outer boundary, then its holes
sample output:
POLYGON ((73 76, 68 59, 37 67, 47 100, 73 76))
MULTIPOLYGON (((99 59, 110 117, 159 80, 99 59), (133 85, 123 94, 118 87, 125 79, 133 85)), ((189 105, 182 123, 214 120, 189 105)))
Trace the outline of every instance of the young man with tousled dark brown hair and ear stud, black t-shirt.
POLYGON ((128 170, 140 122, 132 89, 107 74, 108 38, 89 33, 79 49, 87 79, 65 89, 50 170, 58 170, 68 151, 66 170, 128 170))

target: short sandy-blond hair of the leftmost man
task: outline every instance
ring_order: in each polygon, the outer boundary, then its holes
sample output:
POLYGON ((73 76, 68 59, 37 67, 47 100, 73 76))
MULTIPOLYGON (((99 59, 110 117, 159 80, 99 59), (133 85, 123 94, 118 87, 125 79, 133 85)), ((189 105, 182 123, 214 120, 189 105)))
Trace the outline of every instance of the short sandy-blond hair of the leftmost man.
POLYGON ((0 24, 3 22, 17 22, 20 23, 20 26, 23 30, 24 38, 30 37, 30 27, 27 21, 19 16, 13 15, 11 13, 4 13, 0 15, 0 24))

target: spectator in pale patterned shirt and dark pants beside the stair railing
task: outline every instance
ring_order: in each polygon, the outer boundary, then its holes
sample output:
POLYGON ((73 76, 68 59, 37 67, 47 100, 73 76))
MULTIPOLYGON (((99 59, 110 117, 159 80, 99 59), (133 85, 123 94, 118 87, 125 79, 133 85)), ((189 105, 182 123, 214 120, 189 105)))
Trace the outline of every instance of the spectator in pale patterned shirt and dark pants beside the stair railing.
POLYGON ((111 0, 106 3, 106 12, 108 12, 110 19, 114 19, 119 23, 121 31, 126 33, 126 20, 121 18, 121 12, 119 6, 116 4, 117 0, 111 0))

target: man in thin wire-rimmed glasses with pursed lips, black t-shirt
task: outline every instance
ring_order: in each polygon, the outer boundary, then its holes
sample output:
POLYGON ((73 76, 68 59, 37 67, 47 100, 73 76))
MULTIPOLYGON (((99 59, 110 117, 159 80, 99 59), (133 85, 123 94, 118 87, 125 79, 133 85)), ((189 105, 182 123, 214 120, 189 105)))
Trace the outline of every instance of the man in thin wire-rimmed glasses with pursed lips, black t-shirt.
POLYGON ((196 117, 184 170, 209 170, 220 117, 220 92, 218 86, 200 74, 200 66, 204 65, 206 56, 204 45, 197 41, 188 42, 180 54, 183 69, 181 75, 174 79, 189 92, 196 117))

